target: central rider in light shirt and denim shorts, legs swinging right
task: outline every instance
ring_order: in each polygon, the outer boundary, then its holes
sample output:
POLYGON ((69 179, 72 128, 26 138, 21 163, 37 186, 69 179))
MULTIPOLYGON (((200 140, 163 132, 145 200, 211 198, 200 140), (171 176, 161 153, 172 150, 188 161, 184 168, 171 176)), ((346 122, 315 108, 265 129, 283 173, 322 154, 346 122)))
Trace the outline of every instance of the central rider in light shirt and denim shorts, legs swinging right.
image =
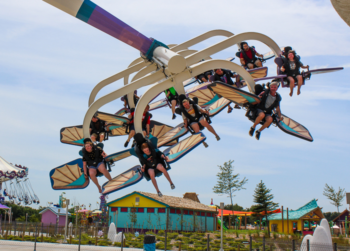
POLYGON ((184 127, 189 125, 195 132, 199 132, 198 123, 200 123, 202 126, 206 127, 208 131, 215 135, 217 141, 220 140, 220 137, 216 134, 214 128, 205 120, 203 116, 203 113, 209 113, 208 110, 200 108, 198 104, 190 104, 188 99, 183 99, 182 104, 179 105, 179 108, 182 112, 184 127))

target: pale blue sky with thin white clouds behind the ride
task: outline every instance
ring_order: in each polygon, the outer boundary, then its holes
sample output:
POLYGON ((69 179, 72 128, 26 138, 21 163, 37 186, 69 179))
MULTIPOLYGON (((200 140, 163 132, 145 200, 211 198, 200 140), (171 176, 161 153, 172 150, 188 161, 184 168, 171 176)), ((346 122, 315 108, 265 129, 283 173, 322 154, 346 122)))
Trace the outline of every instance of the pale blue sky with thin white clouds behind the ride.
MULTIPOLYGON (((246 177, 246 189, 236 191, 233 203, 250 207, 256 185, 262 180, 274 195, 273 201, 284 208, 297 209, 313 198, 323 212, 336 207, 322 195, 325 183, 350 192, 348 173, 350 87, 350 27, 339 17, 329 0, 169 0, 164 4, 148 0, 94 0, 114 16, 147 37, 165 44, 179 44, 206 31, 224 29, 234 34, 254 31, 273 39, 278 46, 292 46, 310 69, 344 67, 343 70, 312 75, 301 87, 301 94, 289 97, 289 88, 279 88, 282 113, 304 125, 311 133, 308 142, 277 127, 262 131, 260 140, 248 135, 252 123, 245 111, 223 110, 213 117, 212 126, 221 140, 206 129, 209 147, 196 147, 171 164, 170 177, 174 190, 164 176, 157 178, 165 195, 182 197, 196 192, 201 203, 230 203, 226 195, 212 192, 218 165, 234 160, 234 173, 246 177), (248 14, 244 11, 247 10, 248 14), (347 156, 347 157, 346 157, 347 156)), ((207 39, 191 49, 200 50, 224 37, 207 39)), ((256 51, 270 49, 263 43, 248 40, 256 51)), ((212 58, 234 56, 231 46, 212 58)), ((0 3, 0 108, 2 143, 0 156, 11 163, 29 168, 29 180, 40 199, 38 205, 56 203, 61 192, 71 202, 98 207, 99 193, 90 182, 85 189, 53 190, 49 171, 78 158, 80 147, 59 141, 59 130, 82 124, 92 88, 101 80, 127 68, 139 57, 139 51, 103 33, 85 22, 42 0, 11 0, 0 3)), ((235 58, 233 62, 239 63, 235 58)), ((273 60, 264 63, 273 76, 273 60)), ((123 85, 122 80, 104 87, 100 97, 123 85)), ((245 87, 246 88, 246 87, 245 87)), ((145 88, 138 90, 138 94, 145 88)), ((247 88, 245 89, 247 90, 247 88)), ((294 91, 296 92, 296 90, 294 91)), ((160 96, 159 98, 162 98, 160 96)), ((100 110, 114 113, 123 105, 120 99, 100 110)), ((153 119, 169 125, 171 111, 164 107, 151 112, 153 119)), ((104 142, 107 154, 125 149, 126 136, 104 142)), ((165 148, 161 148, 164 150, 165 148)), ((130 156, 118 161, 111 176, 138 164, 130 156)), ((104 183, 105 177, 98 178, 104 183)), ((133 186, 108 195, 107 201, 132 191, 155 193, 151 182, 141 180, 133 186)), ((339 211, 348 205, 343 200, 339 211)))

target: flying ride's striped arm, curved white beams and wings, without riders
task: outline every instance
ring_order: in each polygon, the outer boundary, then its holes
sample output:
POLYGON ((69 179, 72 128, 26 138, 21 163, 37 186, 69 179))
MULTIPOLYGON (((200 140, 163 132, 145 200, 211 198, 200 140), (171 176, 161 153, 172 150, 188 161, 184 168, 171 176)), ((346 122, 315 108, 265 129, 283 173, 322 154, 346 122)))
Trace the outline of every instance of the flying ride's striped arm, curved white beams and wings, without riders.
MULTIPOLYGON (((240 42, 252 39, 261 41, 271 50, 263 55, 262 60, 272 57, 276 59, 280 58, 282 53, 281 48, 283 49, 283 47, 279 47, 271 38, 261 33, 244 32, 233 34, 226 30, 210 30, 183 43, 165 45, 153 38, 144 36, 90 0, 44 1, 134 47, 140 51, 141 55, 139 58, 133 60, 126 69, 96 84, 90 93, 88 109, 82 125, 61 129, 60 141, 63 143, 82 146, 83 139, 90 137, 89 124, 94 115, 107 122, 106 131, 109 137, 125 135, 125 127, 130 123, 130 119, 123 116, 125 113, 130 112, 127 108, 122 108, 115 114, 99 111, 103 105, 124 95, 127 95, 129 106, 135 108, 135 131, 142 134, 142 113, 146 105, 149 103, 150 110, 170 106, 166 99, 150 103, 159 93, 170 87, 173 87, 178 94, 185 94, 187 97, 196 100, 197 104, 201 108, 209 110, 209 116, 213 117, 231 102, 247 108, 249 111, 253 107, 253 104, 260 102, 260 97, 257 96, 259 93, 254 93, 256 81, 272 78, 283 79, 285 77, 285 75, 266 77, 267 67, 246 70, 241 65, 232 62, 232 58, 225 60, 210 57, 212 54, 234 44, 237 44, 239 48, 240 42), (225 38, 198 51, 188 49, 190 46, 213 36, 224 36, 225 38), (213 83, 200 82, 200 80, 194 78, 200 73, 214 68, 233 71, 237 75, 235 79, 236 86, 230 86, 218 81, 213 83), (134 76, 129 79, 131 74, 134 74, 134 76), (124 82, 123 86, 96 98, 97 93, 103 87, 122 78, 124 82), (195 82, 199 82, 200 84, 185 90, 185 86, 195 82), (146 85, 151 85, 151 87, 140 96, 135 106, 133 101, 134 91, 146 85), (242 89, 245 86, 248 91, 242 89)), ((278 64, 278 70, 281 65, 278 60, 276 62, 278 64)), ((340 69, 342 68, 310 70, 303 72, 303 76, 309 79, 310 74, 340 69)), ((282 81, 282 86, 286 84, 283 80, 279 81, 282 81)), ((246 115, 249 117, 248 113, 246 115)), ((275 113, 273 114, 274 123, 282 131, 308 141, 313 140, 309 131, 304 126, 285 115, 283 116, 284 119, 281 121, 275 113)), ((167 164, 177 161, 205 140, 203 132, 194 133, 190 128, 183 127, 183 123, 170 126, 151 120, 150 131, 149 139, 146 137, 146 140, 150 140, 153 146, 169 146, 163 150, 164 154, 167 154, 169 158, 167 164), (188 132, 190 132, 190 136, 179 140, 180 137, 186 135, 188 132)), ((130 155, 136 155, 133 148, 110 154, 104 160, 110 171, 110 167, 115 161, 130 155)), ((89 179, 84 177, 82 171, 81 158, 53 168, 49 175, 53 189, 80 189, 89 184, 89 179)), ((143 173, 140 171, 140 166, 136 165, 104 183, 102 194, 117 191, 140 181, 142 178, 143 173)))

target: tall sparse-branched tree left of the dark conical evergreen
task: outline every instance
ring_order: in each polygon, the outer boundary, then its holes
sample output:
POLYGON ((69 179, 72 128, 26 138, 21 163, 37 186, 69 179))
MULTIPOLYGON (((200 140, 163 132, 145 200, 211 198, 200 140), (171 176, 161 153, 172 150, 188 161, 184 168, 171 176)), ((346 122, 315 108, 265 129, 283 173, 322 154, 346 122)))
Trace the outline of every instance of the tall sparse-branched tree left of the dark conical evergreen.
POLYGON ((245 189, 243 185, 248 182, 248 179, 245 177, 239 180, 239 173, 233 174, 233 161, 234 160, 228 160, 223 163, 223 166, 218 165, 220 172, 216 174, 217 183, 214 188, 212 188, 214 193, 218 193, 219 195, 227 194, 227 197, 231 199, 231 205, 233 205, 232 196, 235 196, 233 192, 245 189))

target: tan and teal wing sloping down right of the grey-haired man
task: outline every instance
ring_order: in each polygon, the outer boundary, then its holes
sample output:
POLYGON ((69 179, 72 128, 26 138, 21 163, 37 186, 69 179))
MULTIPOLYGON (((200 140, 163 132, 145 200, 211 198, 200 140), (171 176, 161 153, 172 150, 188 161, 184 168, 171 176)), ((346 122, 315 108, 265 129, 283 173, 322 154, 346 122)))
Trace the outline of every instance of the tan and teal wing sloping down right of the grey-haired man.
MULTIPOLYGON (((276 111, 273 110, 273 113, 276 114, 276 111)), ((277 126, 279 129, 295 137, 299 137, 310 142, 313 141, 313 138, 310 132, 306 129, 306 127, 287 117, 284 114, 282 114, 282 116, 284 117, 282 121, 276 117, 277 126)))

